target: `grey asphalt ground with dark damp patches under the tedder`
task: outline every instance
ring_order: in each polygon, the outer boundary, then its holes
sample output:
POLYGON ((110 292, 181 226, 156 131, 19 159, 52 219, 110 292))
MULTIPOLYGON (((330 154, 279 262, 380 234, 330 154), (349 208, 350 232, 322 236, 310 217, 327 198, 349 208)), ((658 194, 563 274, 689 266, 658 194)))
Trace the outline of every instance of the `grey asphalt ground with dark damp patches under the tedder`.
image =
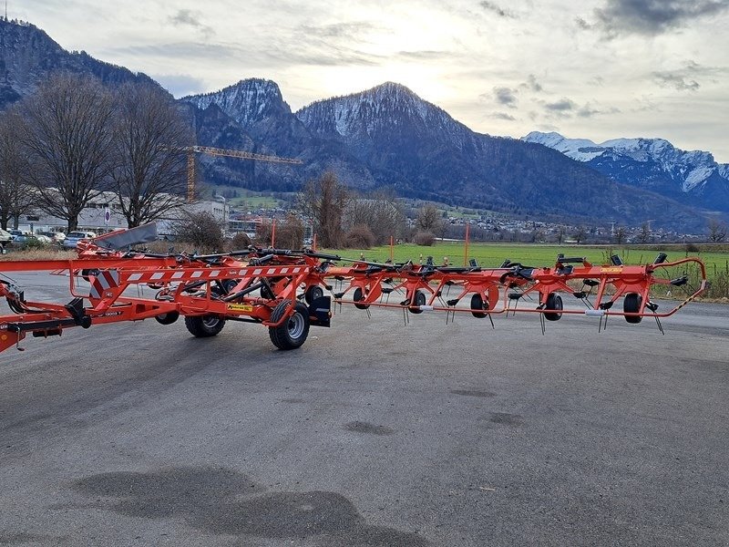
POLYGON ((0 545, 729 544, 729 307, 597 321, 29 337, 0 354, 0 545))

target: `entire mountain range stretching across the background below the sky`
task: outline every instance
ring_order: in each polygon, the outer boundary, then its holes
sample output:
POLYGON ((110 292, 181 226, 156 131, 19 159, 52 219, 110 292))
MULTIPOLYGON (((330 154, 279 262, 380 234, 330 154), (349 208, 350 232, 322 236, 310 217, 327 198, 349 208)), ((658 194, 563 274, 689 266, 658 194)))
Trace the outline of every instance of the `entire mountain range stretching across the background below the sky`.
MULTIPOLYGON (((35 26, 5 20, 0 69, 0 108, 56 71, 98 77, 110 86, 159 86, 84 52, 69 53, 35 26)), ((713 167, 706 152, 682 152, 667 141, 657 146, 659 139, 628 139, 637 143, 631 148, 628 140, 624 146, 595 145, 556 134, 493 137, 393 82, 296 112, 275 82, 258 78, 179 103, 201 145, 303 160, 293 166, 201 156, 204 180, 215 183, 295 191, 323 170, 334 170, 362 191, 386 188, 404 197, 563 222, 658 219, 654 226, 683 232, 703 232, 709 204, 712 211, 729 212, 726 166, 713 167), (653 159, 659 149, 662 158, 653 159), (700 176, 700 164, 711 174, 700 176)))

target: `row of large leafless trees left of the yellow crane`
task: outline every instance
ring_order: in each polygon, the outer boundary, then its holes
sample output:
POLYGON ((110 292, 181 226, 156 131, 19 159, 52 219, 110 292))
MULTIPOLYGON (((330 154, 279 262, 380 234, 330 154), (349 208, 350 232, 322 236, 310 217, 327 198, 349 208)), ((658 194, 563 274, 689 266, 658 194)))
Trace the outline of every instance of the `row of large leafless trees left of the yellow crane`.
POLYGON ((63 74, 0 114, 0 226, 37 209, 68 231, 102 191, 129 227, 182 202, 193 132, 161 88, 63 74))

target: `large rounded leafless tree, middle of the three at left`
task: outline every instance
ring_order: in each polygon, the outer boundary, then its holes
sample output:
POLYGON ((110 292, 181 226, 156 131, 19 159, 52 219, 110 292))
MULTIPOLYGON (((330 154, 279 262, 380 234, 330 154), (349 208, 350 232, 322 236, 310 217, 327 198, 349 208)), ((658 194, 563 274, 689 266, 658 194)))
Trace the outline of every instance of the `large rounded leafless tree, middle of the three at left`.
POLYGON ((113 98, 90 78, 56 76, 20 110, 39 205, 76 230, 79 213, 104 189, 113 168, 113 98))

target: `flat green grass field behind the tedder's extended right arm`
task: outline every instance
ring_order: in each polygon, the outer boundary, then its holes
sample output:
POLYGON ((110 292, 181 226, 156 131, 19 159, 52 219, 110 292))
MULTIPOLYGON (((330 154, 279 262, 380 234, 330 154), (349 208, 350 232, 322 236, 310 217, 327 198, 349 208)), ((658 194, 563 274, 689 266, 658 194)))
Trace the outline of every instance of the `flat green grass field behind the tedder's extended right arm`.
MULTIPOLYGON (((673 245, 642 245, 642 246, 590 246, 590 245, 549 245, 549 244, 515 244, 515 243, 470 243, 468 245, 468 259, 475 258, 478 265, 485 268, 496 268, 506 259, 528 266, 552 266, 557 260, 558 253, 565 256, 586 257, 590 263, 609 263, 611 254, 620 255, 626 264, 652 263, 658 253, 668 254, 668 260, 673 262, 687 256, 696 256, 706 265, 706 276, 712 286, 704 294, 707 298, 729 298, 729 247, 705 250, 708 246, 699 245, 698 252, 687 252, 681 244, 673 245)), ((341 249, 328 250, 328 253, 339 254, 344 258, 357 259, 361 256, 368 261, 385 262, 390 258, 391 249, 388 245, 373 247, 372 249, 341 249)), ((431 247, 418 246, 412 243, 395 245, 392 249, 393 259, 396 263, 412 260, 413 262, 426 262, 428 256, 433 257, 436 264, 444 262, 448 257, 451 265, 465 264, 463 243, 436 243, 431 247)), ((690 284, 697 286, 700 272, 697 267, 690 264, 674 268, 673 271, 660 271, 665 277, 679 277, 688 275, 690 284), (663 273, 664 272, 664 273, 663 273)))

